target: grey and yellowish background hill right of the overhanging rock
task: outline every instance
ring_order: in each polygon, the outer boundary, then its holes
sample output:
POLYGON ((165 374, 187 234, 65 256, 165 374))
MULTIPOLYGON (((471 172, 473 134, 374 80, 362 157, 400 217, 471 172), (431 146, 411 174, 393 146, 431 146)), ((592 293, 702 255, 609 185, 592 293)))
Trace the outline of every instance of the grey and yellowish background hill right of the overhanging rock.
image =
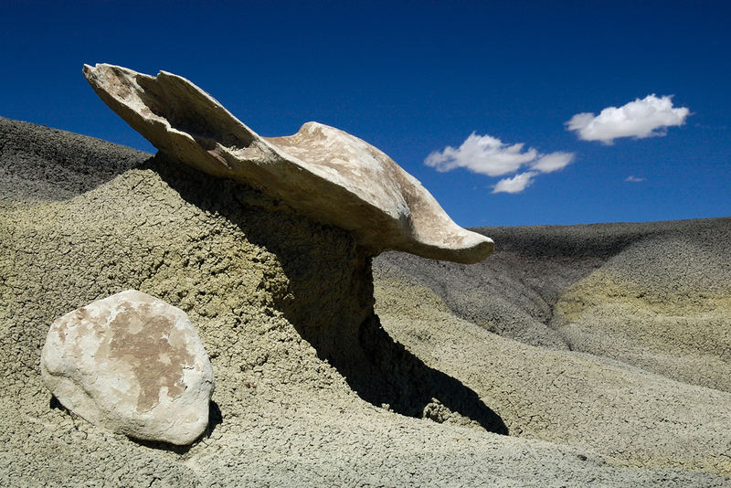
POLYGON ((472 266, 403 253, 376 281, 418 281, 461 319, 529 345, 731 391, 731 218, 476 228, 472 266))

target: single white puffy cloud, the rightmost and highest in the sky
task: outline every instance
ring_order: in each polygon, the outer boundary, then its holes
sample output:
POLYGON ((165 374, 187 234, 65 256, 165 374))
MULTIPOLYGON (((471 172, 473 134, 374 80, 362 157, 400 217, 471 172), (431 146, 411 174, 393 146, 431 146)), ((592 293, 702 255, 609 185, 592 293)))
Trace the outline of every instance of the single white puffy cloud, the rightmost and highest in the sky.
POLYGON ((619 108, 607 107, 599 115, 577 113, 565 125, 581 140, 610 144, 618 137, 643 139, 665 135, 668 127, 683 125, 689 114, 686 107, 673 107, 672 97, 658 98, 653 93, 619 108))

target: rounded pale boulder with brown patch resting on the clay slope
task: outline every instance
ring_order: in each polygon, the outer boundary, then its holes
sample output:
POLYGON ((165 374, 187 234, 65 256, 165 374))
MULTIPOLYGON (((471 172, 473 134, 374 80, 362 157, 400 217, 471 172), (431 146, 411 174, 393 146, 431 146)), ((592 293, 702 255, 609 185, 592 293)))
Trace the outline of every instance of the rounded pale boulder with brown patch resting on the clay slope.
POLYGON ((43 382, 69 410, 143 440, 189 444, 208 424, 213 369, 180 309, 127 291, 54 322, 43 382))

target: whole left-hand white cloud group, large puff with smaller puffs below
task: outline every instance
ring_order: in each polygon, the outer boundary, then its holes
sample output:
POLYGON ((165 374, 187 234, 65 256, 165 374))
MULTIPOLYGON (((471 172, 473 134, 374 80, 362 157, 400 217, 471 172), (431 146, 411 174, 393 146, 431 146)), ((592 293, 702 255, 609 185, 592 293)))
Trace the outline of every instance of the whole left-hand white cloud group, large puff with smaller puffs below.
POLYGON ((573 153, 557 151, 541 154, 532 147, 524 149, 524 146, 524 143, 511 145, 497 137, 471 133, 460 147, 447 146, 442 151, 435 151, 429 154, 424 164, 440 172, 466 168, 488 176, 509 175, 527 166, 529 171, 504 178, 493 186, 493 193, 519 193, 530 186, 539 173, 558 171, 574 161, 573 153))

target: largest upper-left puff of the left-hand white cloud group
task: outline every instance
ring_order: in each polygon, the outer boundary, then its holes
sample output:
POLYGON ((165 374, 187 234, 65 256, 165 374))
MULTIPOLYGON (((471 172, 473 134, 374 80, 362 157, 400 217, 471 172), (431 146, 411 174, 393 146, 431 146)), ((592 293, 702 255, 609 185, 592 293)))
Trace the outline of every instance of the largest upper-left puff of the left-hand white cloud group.
POLYGON ((508 175, 541 156, 535 149, 524 151, 523 147, 522 143, 509 145, 496 137, 471 133, 460 147, 448 145, 442 151, 435 151, 424 164, 440 172, 467 168, 482 175, 508 175))

